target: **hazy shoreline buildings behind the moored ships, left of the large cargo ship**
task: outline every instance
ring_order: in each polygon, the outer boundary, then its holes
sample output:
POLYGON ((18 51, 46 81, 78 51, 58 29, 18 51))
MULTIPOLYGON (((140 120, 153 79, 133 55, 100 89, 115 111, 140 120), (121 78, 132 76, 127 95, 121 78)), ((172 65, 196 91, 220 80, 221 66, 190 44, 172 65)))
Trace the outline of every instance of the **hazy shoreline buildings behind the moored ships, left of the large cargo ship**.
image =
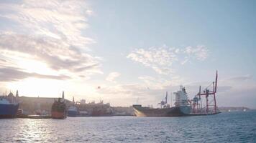
MULTIPOLYGON (((58 101, 60 97, 25 97, 19 96, 17 91, 14 95, 9 92, 0 97, 8 97, 11 100, 19 102, 19 109, 22 109, 23 114, 50 114, 51 107, 54 101, 58 101)), ((80 116, 131 116, 133 115, 132 107, 111 107, 109 103, 88 102, 86 99, 81 99, 81 102, 70 101, 65 99, 64 92, 61 100, 65 102, 67 107, 75 105, 80 112, 80 116), (75 103, 75 104, 74 104, 75 103)))

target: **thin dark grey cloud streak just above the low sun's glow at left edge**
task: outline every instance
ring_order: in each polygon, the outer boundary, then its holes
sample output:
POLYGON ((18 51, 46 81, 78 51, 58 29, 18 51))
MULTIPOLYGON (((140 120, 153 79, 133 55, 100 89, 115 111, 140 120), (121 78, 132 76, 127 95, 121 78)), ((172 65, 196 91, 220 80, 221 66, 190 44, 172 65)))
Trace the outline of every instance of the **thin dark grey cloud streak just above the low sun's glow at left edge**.
POLYGON ((40 79, 69 79, 70 77, 65 75, 45 75, 37 73, 29 73, 22 71, 22 69, 11 67, 11 66, 1 66, 0 67, 0 81, 1 82, 14 82, 20 79, 26 79, 28 77, 36 77, 40 79))

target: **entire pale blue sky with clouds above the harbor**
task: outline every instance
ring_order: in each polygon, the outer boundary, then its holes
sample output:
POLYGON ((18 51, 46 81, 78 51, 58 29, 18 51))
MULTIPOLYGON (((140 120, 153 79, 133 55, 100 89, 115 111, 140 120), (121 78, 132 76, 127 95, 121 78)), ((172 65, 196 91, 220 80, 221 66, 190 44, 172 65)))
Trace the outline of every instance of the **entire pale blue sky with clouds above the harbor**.
POLYGON ((214 82, 256 109, 255 1, 0 0, 0 93, 157 107, 214 82))

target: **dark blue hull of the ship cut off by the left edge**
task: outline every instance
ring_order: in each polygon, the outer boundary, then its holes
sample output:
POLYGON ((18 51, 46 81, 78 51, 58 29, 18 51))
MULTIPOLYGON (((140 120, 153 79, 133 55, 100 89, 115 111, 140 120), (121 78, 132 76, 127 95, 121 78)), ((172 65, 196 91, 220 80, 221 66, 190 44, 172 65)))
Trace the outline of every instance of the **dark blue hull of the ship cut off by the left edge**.
POLYGON ((0 118, 16 117, 19 104, 0 104, 0 118))

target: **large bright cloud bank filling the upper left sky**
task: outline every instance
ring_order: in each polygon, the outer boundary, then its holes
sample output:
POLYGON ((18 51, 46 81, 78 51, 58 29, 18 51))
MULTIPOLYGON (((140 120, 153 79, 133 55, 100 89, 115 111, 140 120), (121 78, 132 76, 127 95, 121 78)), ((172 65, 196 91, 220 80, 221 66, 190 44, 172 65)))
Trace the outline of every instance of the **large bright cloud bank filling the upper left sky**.
MULTIPOLYGON (((1 22, 11 24, 8 30, 0 29, 0 57, 15 64, 26 55, 53 71, 74 75, 102 73, 100 58, 91 55, 88 48, 95 41, 82 32, 92 14, 86 2, 79 0, 1 2, 1 22)), ((10 66, 9 62, 4 66, 10 66)))

